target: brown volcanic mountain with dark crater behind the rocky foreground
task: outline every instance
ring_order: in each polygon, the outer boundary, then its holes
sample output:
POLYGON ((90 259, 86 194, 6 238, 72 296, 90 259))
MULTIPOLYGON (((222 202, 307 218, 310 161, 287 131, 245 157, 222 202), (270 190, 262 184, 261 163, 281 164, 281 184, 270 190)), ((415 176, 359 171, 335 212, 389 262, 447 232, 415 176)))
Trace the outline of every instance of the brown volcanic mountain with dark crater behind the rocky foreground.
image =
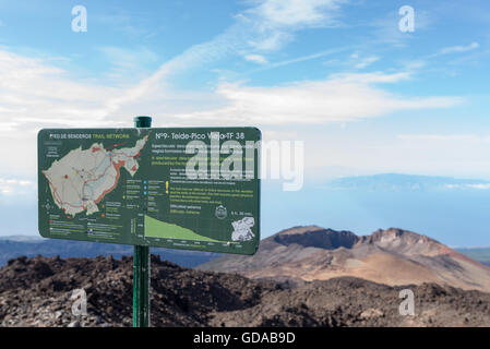
POLYGON ((426 236, 395 228, 358 237, 295 227, 264 239, 253 256, 223 256, 199 268, 299 284, 354 276, 391 286, 435 282, 490 292, 490 267, 426 236))

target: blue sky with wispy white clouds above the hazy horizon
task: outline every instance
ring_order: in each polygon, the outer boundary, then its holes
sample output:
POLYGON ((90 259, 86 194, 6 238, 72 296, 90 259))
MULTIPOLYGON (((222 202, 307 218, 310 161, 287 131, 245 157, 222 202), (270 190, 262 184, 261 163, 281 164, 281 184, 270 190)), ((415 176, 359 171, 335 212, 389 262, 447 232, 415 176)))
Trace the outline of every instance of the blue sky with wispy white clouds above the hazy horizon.
POLYGON ((254 125, 306 181, 490 179, 486 0, 0 0, 0 201, 36 200, 43 128, 254 125), (143 4, 144 3, 144 4, 143 4), (87 12, 74 32, 72 10, 87 12), (414 9, 403 32, 402 7, 414 9))

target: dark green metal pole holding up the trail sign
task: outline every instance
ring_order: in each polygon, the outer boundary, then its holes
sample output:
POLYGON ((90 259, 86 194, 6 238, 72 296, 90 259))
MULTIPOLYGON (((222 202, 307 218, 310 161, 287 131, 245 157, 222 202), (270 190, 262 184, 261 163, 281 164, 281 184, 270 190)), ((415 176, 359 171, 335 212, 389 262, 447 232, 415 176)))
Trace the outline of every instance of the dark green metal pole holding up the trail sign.
MULTIPOLYGON (((134 118, 135 128, 151 128, 151 117, 134 118)), ((150 327, 150 246, 134 245, 133 327, 150 327)))

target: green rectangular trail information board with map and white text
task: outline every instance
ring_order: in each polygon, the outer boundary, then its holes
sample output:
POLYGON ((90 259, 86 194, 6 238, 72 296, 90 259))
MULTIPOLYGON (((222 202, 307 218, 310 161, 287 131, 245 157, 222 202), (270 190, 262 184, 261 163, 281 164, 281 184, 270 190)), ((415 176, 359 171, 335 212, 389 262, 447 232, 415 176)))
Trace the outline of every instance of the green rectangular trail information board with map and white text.
POLYGON ((39 232, 253 254, 260 141, 254 128, 41 130, 39 232))

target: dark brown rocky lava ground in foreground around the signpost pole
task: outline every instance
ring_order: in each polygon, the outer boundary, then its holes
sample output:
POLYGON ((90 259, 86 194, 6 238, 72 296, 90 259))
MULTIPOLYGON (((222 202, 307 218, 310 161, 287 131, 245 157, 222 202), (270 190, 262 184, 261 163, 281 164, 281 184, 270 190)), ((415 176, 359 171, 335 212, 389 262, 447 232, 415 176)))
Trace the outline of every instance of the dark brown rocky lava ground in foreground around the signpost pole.
MULTIPOLYGON (((0 326, 131 326, 132 260, 19 257, 0 269, 0 326), (73 290, 87 294, 75 316, 73 290)), ((153 326, 490 326, 490 293, 342 277, 296 288, 152 257, 153 326), (399 315, 399 290, 415 316, 399 315)))

